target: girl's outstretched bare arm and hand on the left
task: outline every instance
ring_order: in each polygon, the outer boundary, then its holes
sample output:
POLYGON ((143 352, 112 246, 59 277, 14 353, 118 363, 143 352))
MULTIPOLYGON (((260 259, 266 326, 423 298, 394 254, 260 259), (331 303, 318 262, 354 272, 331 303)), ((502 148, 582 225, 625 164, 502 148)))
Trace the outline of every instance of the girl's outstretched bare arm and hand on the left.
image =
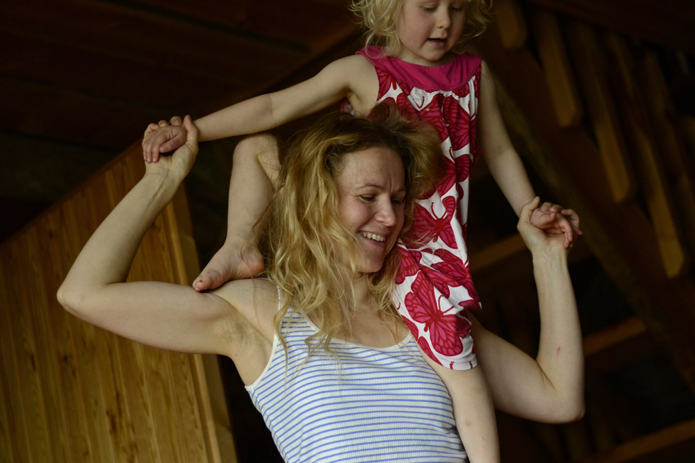
MULTIPOLYGON (((347 56, 327 65, 316 76, 279 92, 263 94, 213 112, 195 121, 199 140, 218 140, 235 135, 268 131, 313 114, 347 98, 358 110, 374 106, 377 79, 372 65, 363 56, 347 56)), ((183 144, 185 133, 165 121, 150 124, 142 141, 142 153, 148 162, 156 162, 160 153, 183 144)))

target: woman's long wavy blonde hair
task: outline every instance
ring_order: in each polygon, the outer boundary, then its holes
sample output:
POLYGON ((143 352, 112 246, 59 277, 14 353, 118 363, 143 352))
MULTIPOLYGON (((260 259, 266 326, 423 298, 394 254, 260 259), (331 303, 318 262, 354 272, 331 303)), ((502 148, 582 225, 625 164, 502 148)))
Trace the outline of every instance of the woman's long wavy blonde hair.
MULTIPOLYGON (((431 126, 406 119, 393 103, 381 103, 367 118, 347 114, 323 118, 300 134, 285 155, 266 245, 267 275, 282 296, 281 310, 275 315, 280 339, 280 326, 290 307, 316 323, 320 331, 311 338, 320 339, 327 351, 331 339, 351 335, 355 308, 350 288, 362 275, 355 264, 354 230, 339 219, 336 176, 345 155, 382 146, 397 153, 405 168, 402 234, 408 233, 414 201, 431 191, 443 174, 439 136, 431 126), (345 255, 350 256, 347 265, 345 255)), ((398 252, 392 251, 381 271, 363 275, 382 319, 398 317, 391 302, 398 263, 398 252)), ((307 339, 310 348, 311 338, 307 339)))

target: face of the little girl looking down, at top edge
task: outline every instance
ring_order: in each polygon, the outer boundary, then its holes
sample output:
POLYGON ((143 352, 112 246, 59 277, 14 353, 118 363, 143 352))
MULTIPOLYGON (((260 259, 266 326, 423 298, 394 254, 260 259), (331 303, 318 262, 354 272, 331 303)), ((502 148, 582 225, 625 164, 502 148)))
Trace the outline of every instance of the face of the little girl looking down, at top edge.
POLYGON ((398 58, 436 66, 454 58, 451 50, 464 32, 468 0, 403 0, 396 20, 398 58))

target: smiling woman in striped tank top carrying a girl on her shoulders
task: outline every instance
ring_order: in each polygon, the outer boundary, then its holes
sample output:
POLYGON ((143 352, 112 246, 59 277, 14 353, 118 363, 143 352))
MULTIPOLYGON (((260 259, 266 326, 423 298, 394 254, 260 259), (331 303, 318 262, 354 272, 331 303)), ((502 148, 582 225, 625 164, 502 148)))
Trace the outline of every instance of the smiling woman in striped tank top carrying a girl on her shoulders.
MULTIPOLYGON (((389 111, 327 119, 284 162, 268 279, 209 293, 123 283, 195 161, 197 131, 184 126, 186 144, 147 165, 85 245, 58 292, 65 308, 144 344, 230 357, 286 461, 465 461, 448 393, 391 307, 390 251, 436 178, 436 138, 389 111)), ((538 359, 477 323, 473 334, 500 410, 568 421, 583 413, 581 337, 564 237, 530 225, 538 207, 518 226, 539 287, 538 359)))

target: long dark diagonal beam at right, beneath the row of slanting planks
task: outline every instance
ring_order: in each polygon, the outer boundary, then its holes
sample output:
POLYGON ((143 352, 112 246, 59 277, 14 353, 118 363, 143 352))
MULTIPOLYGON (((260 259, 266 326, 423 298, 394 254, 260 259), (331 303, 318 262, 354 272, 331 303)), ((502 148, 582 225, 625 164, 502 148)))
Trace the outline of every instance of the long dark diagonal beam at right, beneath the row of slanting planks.
POLYGON ((502 112, 515 117, 514 124, 528 134, 525 161, 556 198, 578 211, 582 239, 653 336, 667 345, 683 378, 695 390, 693 280, 667 278, 653 229, 638 205, 607 201, 610 190, 599 167, 596 144, 581 128, 557 127, 550 96, 542 85, 542 70, 532 53, 502 47, 494 23, 479 49, 502 83, 498 93, 506 90, 518 105, 502 112))

